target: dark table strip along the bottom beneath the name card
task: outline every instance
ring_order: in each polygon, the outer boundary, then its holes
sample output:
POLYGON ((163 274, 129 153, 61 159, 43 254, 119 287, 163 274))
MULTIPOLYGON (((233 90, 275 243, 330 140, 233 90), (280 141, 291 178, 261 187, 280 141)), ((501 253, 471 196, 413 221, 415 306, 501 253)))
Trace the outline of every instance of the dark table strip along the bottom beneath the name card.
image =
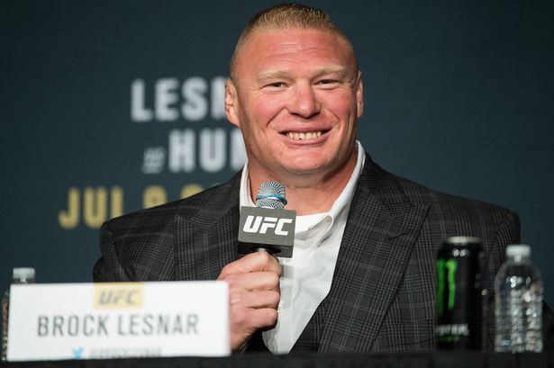
POLYGON ((333 354, 333 355, 232 355, 224 358, 176 357, 149 359, 109 359, 89 361, 4 362, 0 367, 61 368, 552 368, 554 353, 481 354, 468 352, 398 353, 398 354, 333 354))

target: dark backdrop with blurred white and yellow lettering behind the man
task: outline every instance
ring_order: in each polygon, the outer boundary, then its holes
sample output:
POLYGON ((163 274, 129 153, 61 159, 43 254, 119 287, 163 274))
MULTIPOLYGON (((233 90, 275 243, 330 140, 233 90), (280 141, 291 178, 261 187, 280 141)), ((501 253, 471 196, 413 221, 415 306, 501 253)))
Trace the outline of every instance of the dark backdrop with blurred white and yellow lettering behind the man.
MULTIPOLYGON (((554 302, 554 3, 306 1, 352 40, 387 170, 517 211, 554 302)), ((0 285, 88 282, 104 220, 223 182, 239 33, 268 1, 0 3, 0 285)))

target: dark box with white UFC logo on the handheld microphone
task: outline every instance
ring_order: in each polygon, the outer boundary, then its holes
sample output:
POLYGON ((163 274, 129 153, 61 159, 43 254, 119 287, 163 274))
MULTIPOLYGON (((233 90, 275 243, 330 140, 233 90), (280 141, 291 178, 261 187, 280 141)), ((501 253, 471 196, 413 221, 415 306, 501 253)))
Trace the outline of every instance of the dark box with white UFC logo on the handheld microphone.
POLYGON ((278 256, 292 256, 295 220, 296 211, 241 207, 239 251, 250 253, 248 244, 271 245, 280 251, 278 256), (241 243, 247 245, 241 247, 241 243))

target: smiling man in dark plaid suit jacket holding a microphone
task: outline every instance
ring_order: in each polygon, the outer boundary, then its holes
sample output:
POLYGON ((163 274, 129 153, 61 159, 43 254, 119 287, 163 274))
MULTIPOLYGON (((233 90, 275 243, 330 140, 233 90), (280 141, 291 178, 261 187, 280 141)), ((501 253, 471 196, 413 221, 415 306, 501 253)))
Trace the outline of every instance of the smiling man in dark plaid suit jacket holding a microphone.
POLYGON ((277 5, 250 20, 232 56, 225 112, 244 137, 242 173, 104 224, 94 275, 226 280, 234 352, 431 350, 441 240, 482 238, 491 275, 519 241, 513 212, 431 191, 371 161, 356 141, 363 85, 354 50, 317 9, 277 5), (286 208, 298 215, 283 267, 267 253, 237 254, 240 205, 254 205, 263 181, 284 184, 286 208))

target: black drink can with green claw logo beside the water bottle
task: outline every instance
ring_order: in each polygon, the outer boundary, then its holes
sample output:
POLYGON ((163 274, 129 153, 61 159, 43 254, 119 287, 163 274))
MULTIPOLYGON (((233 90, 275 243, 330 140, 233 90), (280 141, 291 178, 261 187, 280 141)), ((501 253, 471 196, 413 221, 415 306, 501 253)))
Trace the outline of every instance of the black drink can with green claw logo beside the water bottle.
POLYGON ((481 239, 447 238, 437 258, 437 347, 482 350, 486 345, 487 277, 481 239))

